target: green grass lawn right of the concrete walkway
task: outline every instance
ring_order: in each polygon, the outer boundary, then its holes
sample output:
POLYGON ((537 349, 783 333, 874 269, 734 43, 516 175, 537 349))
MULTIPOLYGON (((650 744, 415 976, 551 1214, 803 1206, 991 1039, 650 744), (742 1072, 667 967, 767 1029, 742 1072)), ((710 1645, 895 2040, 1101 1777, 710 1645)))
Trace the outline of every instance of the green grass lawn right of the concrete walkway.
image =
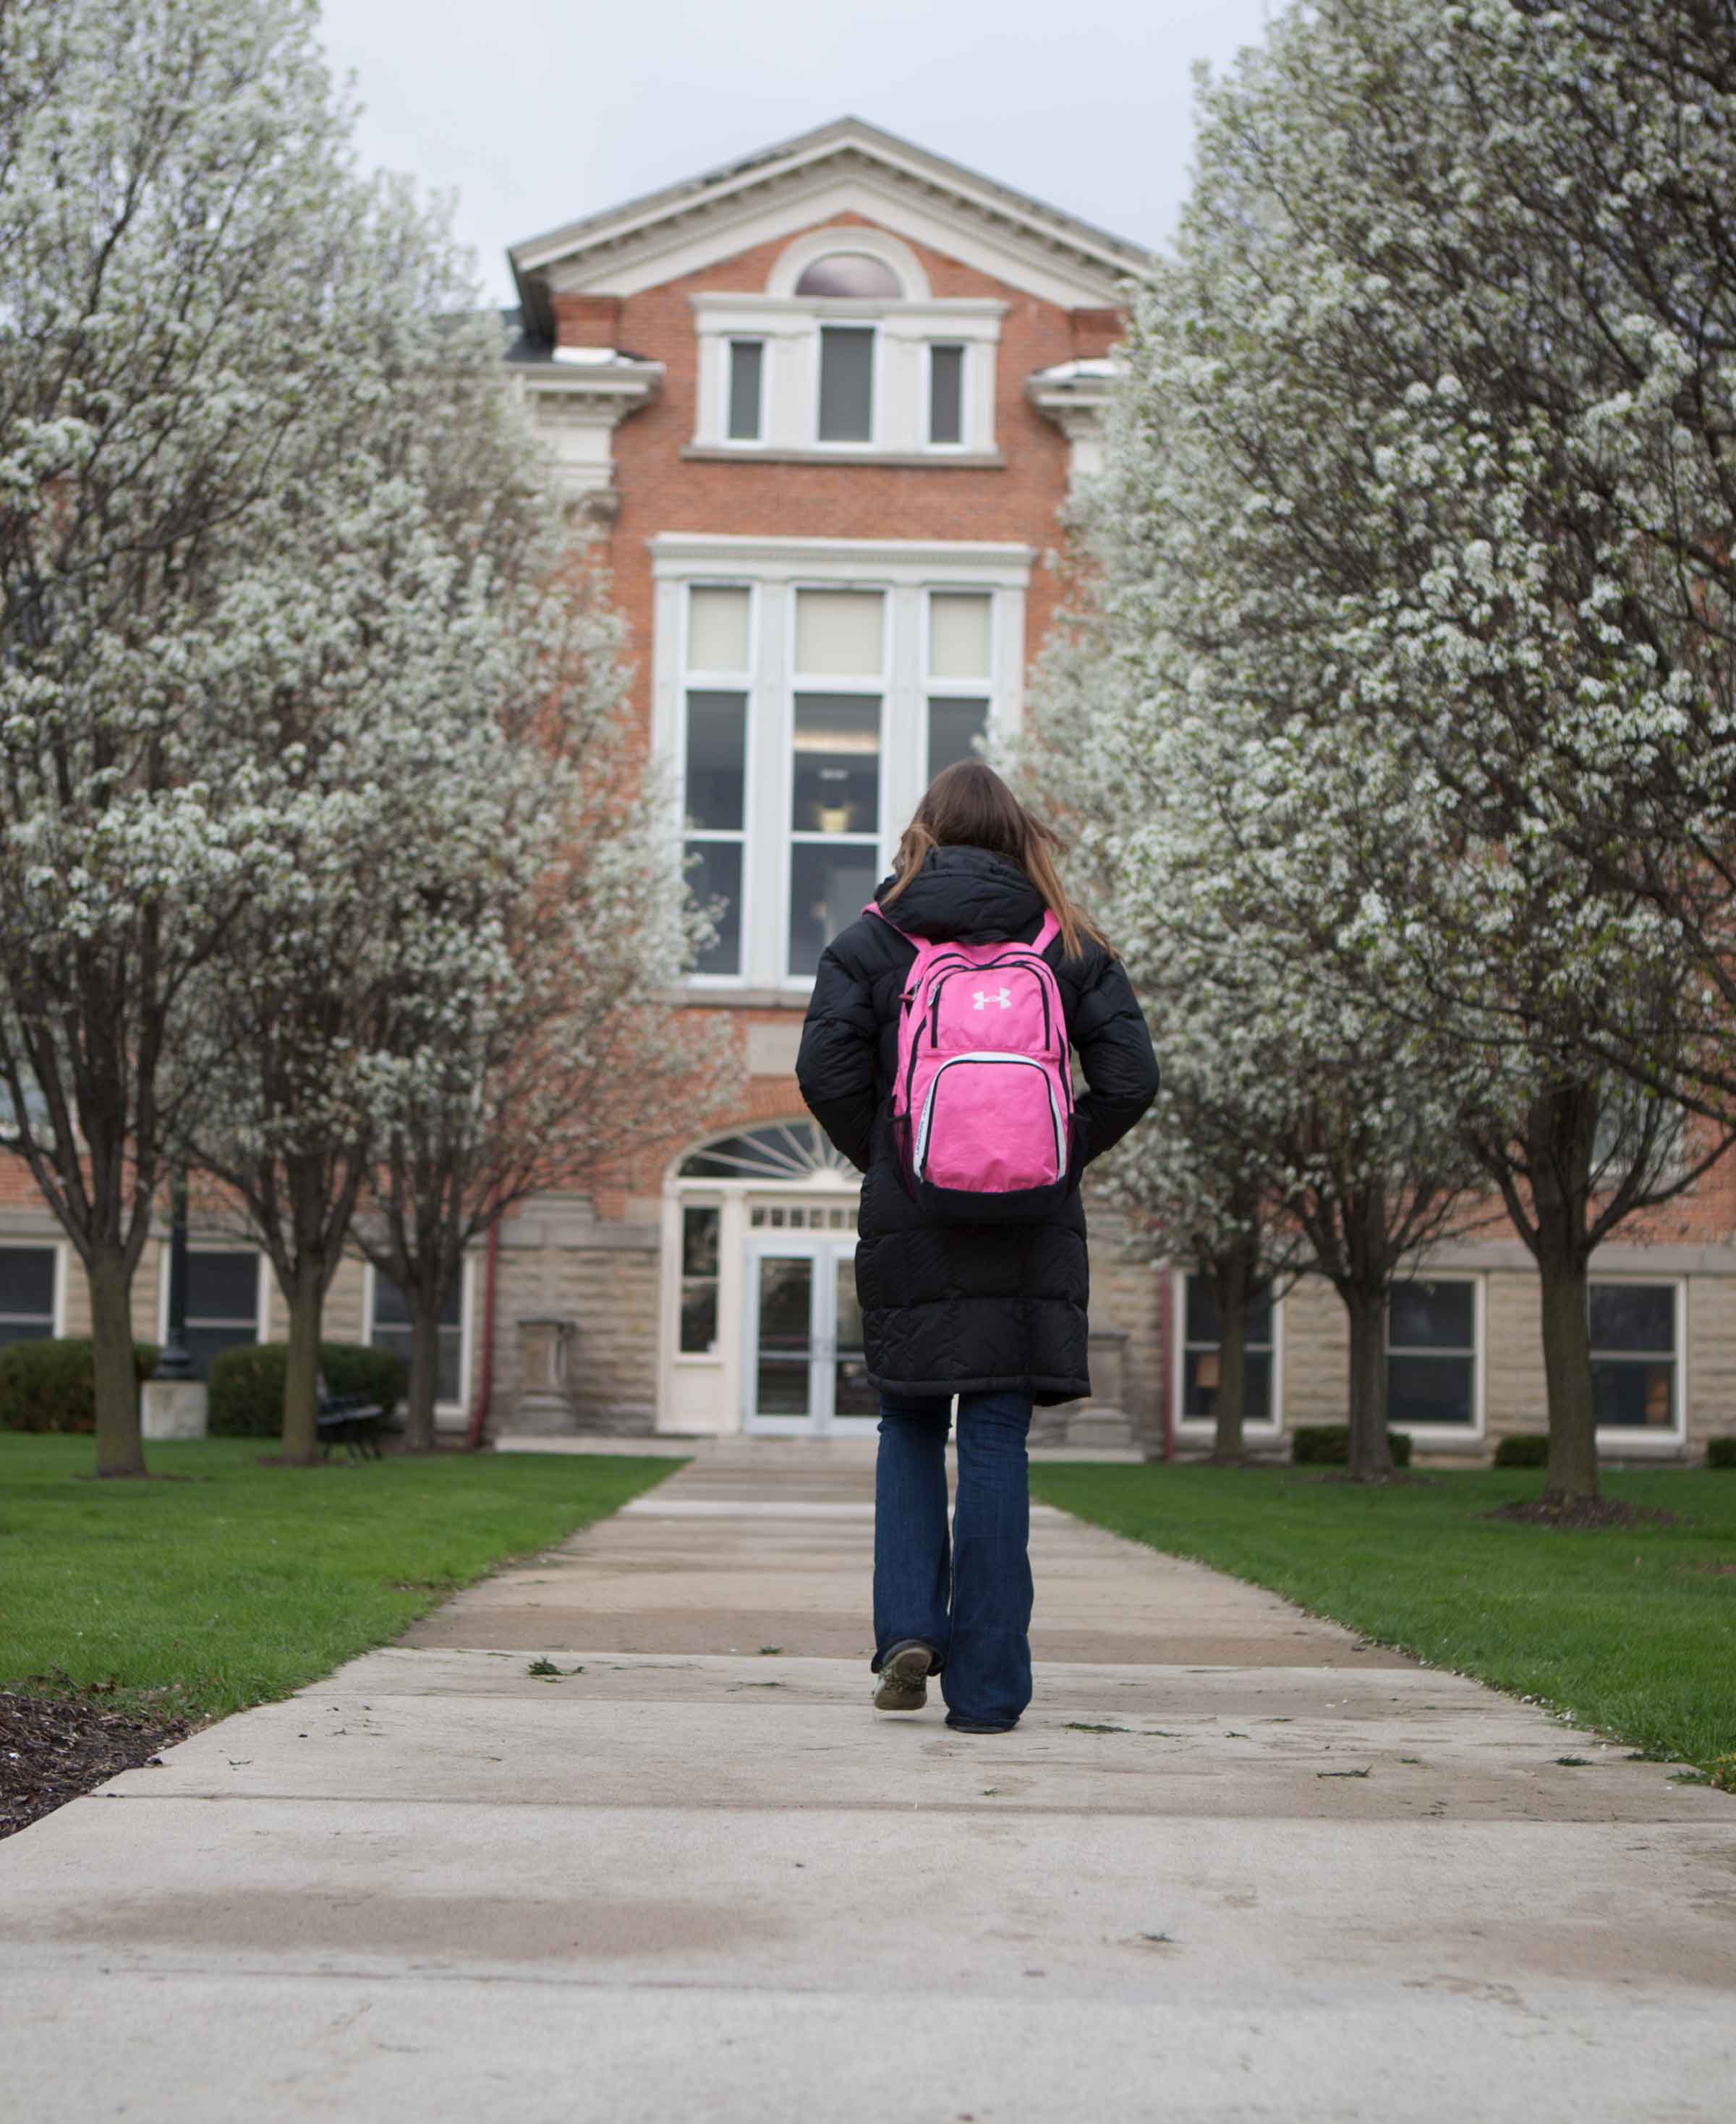
POLYGON ((1504 1472, 1362 1489, 1300 1470, 1031 1470, 1048 1504, 1432 1665, 1670 1761, 1736 1757, 1736 1474, 1604 1478, 1611 1497, 1677 1512, 1674 1527, 1562 1534, 1483 1517, 1538 1487, 1504 1472))

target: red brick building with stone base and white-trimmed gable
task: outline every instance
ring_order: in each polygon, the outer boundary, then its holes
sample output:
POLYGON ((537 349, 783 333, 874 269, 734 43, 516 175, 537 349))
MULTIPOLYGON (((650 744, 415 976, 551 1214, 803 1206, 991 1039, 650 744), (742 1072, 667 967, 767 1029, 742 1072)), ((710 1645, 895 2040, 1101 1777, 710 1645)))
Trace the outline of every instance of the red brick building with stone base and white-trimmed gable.
MULTIPOLYGON (((856 119, 512 249, 508 376, 610 567, 642 726, 729 907, 691 1005, 720 1013, 739 1098, 620 1192, 542 1198, 478 1249, 450 1300, 446 1421, 487 1393, 521 1429, 871 1427, 854 1172, 803 1115, 801 1013, 929 777, 1020 726, 1058 512, 1092 469, 1118 289, 1143 259, 856 119), (535 1391, 550 1347, 565 1376, 535 1391)), ((0 1187, 0 1336, 79 1332, 76 1262, 17 1162, 0 1187)), ((1647 1245, 1602 1251, 1611 1453, 1685 1457, 1730 1427, 1732 1223, 1719 1172, 1647 1245)), ((1152 1444, 1173 1421, 1203 1446, 1207 1294, 1130 1262, 1103 1213, 1092 1232, 1099 1395, 1152 1444)), ((280 1336, 263 1260, 215 1230, 193 1247, 195 1351, 280 1336)), ((140 1334, 164 1317, 153 1249, 140 1334)), ((327 1334, 404 1340, 395 1291, 355 1262, 327 1334)), ((1422 1453, 1543 1427, 1536 1279, 1504 1226, 1396 1294, 1390 1351, 1422 1453)), ((1341 1306, 1303 1285, 1262 1315, 1252 1438, 1341 1421, 1343 1381, 1341 1306)))

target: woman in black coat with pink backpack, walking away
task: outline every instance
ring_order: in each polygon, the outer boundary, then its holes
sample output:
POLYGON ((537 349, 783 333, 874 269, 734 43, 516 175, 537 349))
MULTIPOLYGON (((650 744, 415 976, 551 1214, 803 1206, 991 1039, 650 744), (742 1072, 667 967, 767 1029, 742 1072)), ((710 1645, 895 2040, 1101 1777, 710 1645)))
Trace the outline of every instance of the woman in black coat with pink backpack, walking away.
POLYGON ((1058 852, 990 767, 948 767, 873 907, 822 956, 797 1060, 801 1096, 863 1170, 873 1701, 922 1710, 935 1674, 963 1733, 1005 1733, 1031 1701, 1024 1440, 1033 1404, 1090 1393, 1079 1172, 1158 1092, 1133 988, 1067 898, 1058 852))

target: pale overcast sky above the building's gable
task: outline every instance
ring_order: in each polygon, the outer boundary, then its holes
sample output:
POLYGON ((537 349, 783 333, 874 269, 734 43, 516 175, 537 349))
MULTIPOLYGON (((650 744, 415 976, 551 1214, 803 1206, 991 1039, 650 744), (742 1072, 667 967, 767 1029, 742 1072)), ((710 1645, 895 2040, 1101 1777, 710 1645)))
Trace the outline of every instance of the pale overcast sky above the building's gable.
POLYGON ((1275 0, 325 0, 368 166, 457 191, 506 246, 827 119, 903 134, 1086 221, 1162 242, 1188 183, 1192 64, 1275 0))

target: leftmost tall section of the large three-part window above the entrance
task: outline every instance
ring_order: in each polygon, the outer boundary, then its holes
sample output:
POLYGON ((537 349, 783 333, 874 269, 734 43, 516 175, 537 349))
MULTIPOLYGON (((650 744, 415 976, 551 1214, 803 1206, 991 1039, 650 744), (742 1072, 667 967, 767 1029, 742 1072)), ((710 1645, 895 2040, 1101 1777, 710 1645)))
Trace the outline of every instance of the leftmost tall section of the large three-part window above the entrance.
POLYGON ((748 822, 750 593, 686 593, 686 758, 682 811, 688 890, 716 911, 695 973, 742 971, 742 854, 748 822))

